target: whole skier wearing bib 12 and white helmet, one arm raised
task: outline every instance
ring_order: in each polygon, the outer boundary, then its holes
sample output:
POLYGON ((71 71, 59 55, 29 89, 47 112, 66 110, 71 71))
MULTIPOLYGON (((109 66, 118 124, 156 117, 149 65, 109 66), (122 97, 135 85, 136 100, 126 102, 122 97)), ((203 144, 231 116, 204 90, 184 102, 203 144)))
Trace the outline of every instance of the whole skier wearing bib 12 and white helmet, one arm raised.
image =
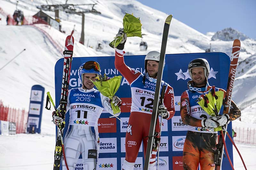
MULTIPOLYGON (((123 32, 119 32, 116 36, 121 36, 122 34, 123 32)), ((150 51, 146 55, 145 74, 132 70, 124 63, 123 49, 126 38, 126 33, 124 33, 123 41, 116 47, 115 67, 129 82, 132 91, 131 115, 125 136, 125 160, 122 168, 124 170, 133 170, 142 140, 144 157, 147 150, 160 53, 150 51)), ((169 120, 175 113, 174 93, 173 88, 164 81, 162 81, 161 89, 163 85, 166 85, 164 105, 158 107, 158 113, 164 119, 169 120)), ((158 118, 155 131, 160 131, 158 118)), ((160 137, 159 133, 158 137, 160 137)), ((153 149, 150 155, 149 170, 156 169, 156 152, 157 149, 153 149)))

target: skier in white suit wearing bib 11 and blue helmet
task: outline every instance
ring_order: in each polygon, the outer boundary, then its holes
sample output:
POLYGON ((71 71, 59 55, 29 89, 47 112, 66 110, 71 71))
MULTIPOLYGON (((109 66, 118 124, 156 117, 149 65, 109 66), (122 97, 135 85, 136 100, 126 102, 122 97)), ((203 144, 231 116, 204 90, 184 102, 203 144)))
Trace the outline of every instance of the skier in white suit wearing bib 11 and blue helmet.
MULTIPOLYGON (((95 61, 83 63, 78 70, 82 87, 68 91, 68 104, 70 119, 68 131, 64 138, 66 161, 69 170, 74 170, 77 160, 82 154, 83 166, 86 170, 96 170, 99 156, 99 132, 98 119, 103 107, 113 115, 110 99, 94 89, 96 76, 100 75, 100 65, 95 61)), ((112 102, 121 106, 121 99, 114 96, 112 102)), ((60 107, 60 106, 59 106, 60 107)), ((58 110, 59 110, 58 107, 58 110)), ((115 114, 115 116, 120 113, 115 114)), ((63 122, 55 112, 52 113, 53 122, 56 125, 63 122)), ((66 170, 62 161, 62 169, 66 170)))

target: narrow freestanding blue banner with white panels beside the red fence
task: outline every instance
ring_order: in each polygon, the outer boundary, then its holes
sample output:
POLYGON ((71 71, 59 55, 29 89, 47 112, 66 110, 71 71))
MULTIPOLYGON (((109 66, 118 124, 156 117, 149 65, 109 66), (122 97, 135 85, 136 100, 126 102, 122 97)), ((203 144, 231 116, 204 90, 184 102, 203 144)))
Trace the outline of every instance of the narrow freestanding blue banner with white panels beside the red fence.
POLYGON ((41 85, 33 85, 31 88, 28 111, 28 133, 41 133, 43 102, 44 87, 41 85))

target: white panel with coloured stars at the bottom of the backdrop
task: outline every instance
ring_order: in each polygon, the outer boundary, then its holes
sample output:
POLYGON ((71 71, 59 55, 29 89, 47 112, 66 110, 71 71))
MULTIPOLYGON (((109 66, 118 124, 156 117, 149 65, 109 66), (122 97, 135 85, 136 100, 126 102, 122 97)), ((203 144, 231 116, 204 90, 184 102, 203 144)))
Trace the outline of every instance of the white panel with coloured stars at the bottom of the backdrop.
POLYGON ((102 170, 102 169, 117 170, 116 158, 99 158, 96 169, 97 170, 102 170))

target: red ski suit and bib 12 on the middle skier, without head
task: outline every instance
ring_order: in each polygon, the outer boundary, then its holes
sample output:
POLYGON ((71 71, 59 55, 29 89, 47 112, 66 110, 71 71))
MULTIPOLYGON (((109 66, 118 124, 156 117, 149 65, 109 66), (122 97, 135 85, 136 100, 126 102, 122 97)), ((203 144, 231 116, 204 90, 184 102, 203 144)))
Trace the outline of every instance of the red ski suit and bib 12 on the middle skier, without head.
MULTIPOLYGON (((148 133, 151 122, 156 83, 149 81, 147 78, 145 79, 145 83, 143 83, 143 74, 128 67, 124 63, 123 52, 120 50, 117 51, 115 53, 115 67, 128 81, 132 91, 131 115, 125 136, 125 160, 129 163, 134 163, 137 158, 142 140, 144 157, 147 150, 148 133)), ((174 93, 173 88, 164 81, 162 81, 161 89, 163 85, 167 85, 165 89, 164 106, 169 112, 169 116, 167 118, 167 120, 169 120, 175 113, 174 93)), ((160 131, 159 121, 156 123, 155 131, 160 131)), ((153 150, 150 157, 150 164, 155 163, 156 152, 157 150, 153 150)))

